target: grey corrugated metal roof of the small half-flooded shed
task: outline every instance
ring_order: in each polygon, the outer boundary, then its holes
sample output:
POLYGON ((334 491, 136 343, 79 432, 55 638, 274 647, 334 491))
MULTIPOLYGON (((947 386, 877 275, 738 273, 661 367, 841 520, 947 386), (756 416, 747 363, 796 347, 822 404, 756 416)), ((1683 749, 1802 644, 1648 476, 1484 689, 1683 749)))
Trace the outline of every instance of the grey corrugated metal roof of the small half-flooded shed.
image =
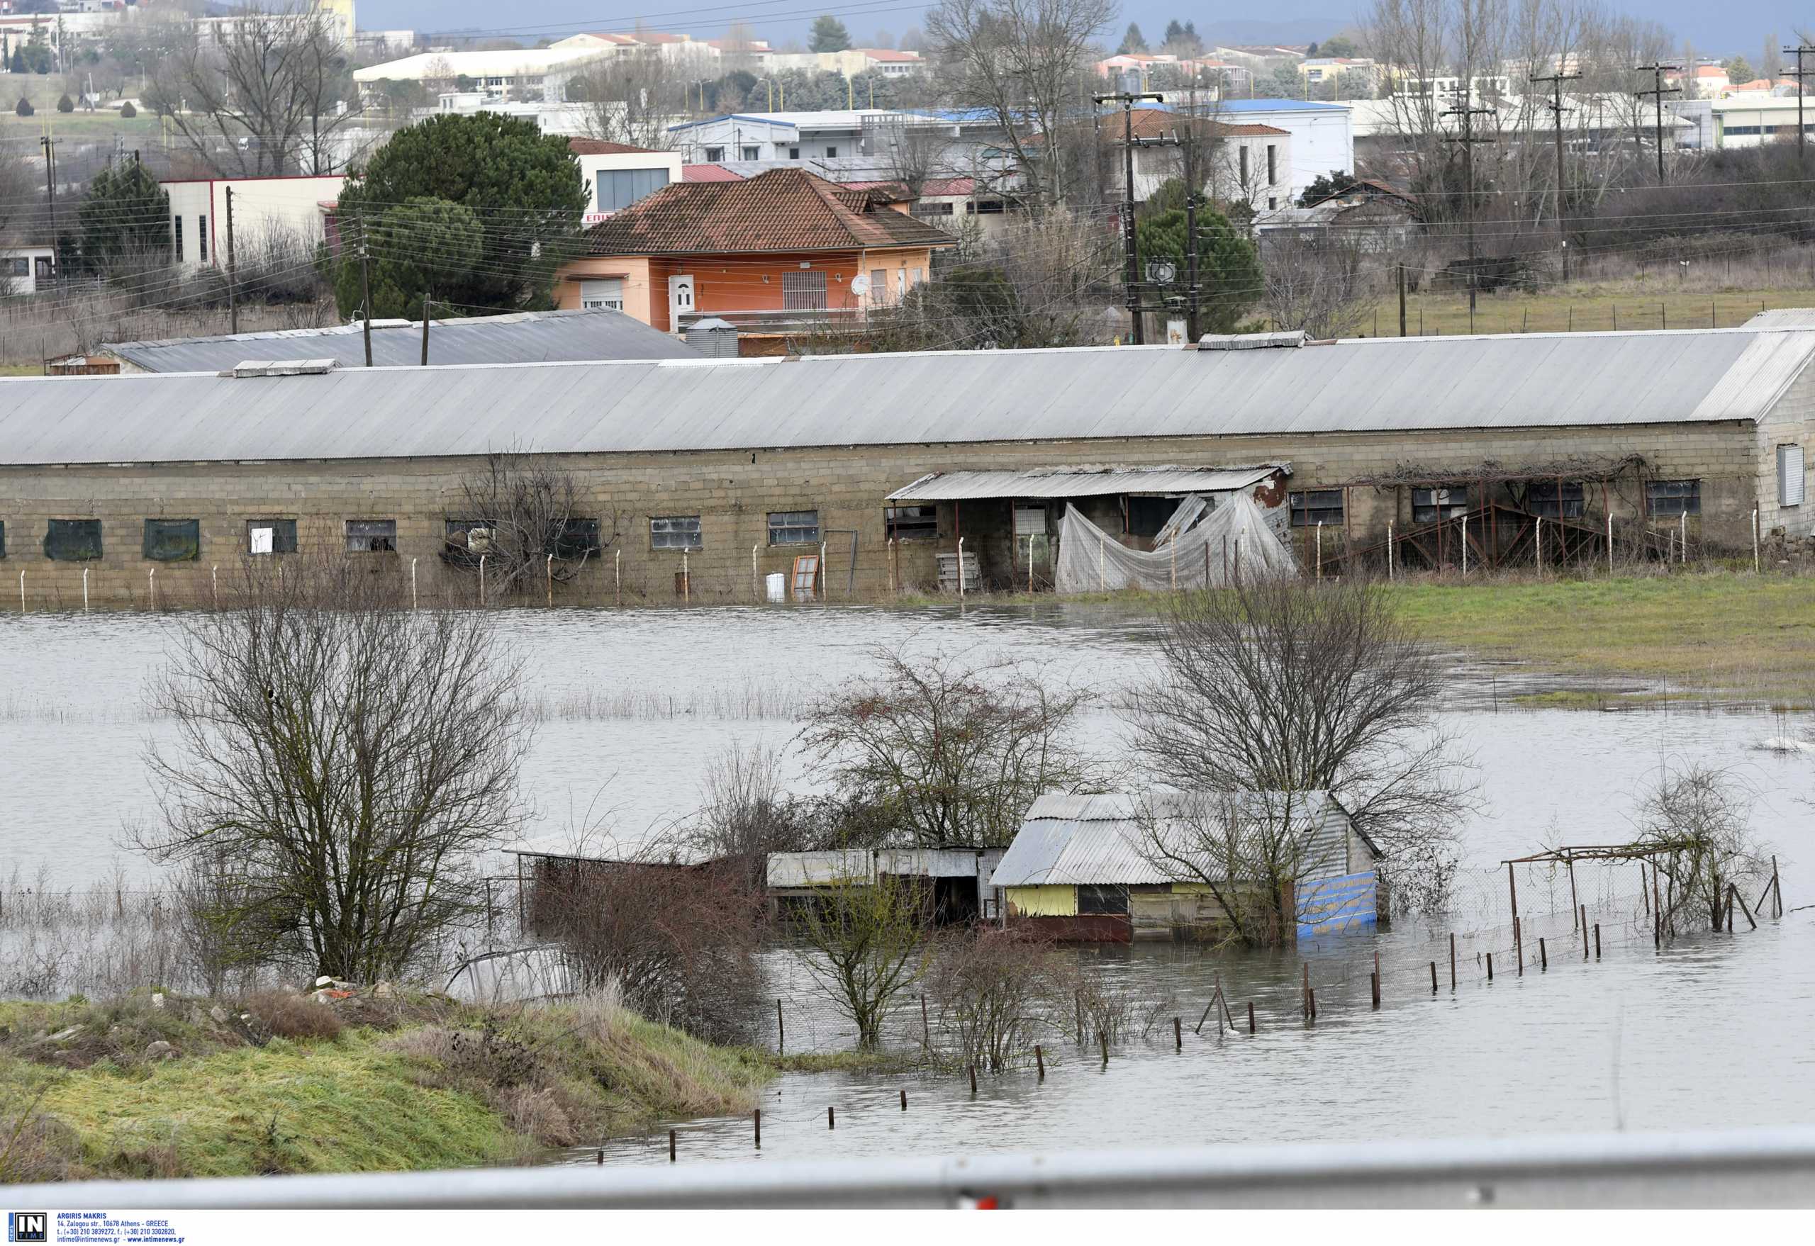
MULTIPOLYGON (((1147 834, 1156 831, 1176 836, 1178 847, 1172 851, 1189 856, 1189 832, 1182 827, 1169 827, 1167 816, 1169 811, 1203 800, 1203 794, 1192 793, 1040 796, 1022 820, 1022 829, 991 874, 989 885, 1074 887, 1174 881, 1178 878, 1176 867, 1162 869, 1151 860, 1147 834), (1142 811, 1143 802, 1147 802, 1147 813, 1142 811)), ((1298 800, 1294 823, 1310 829, 1321 827, 1323 814, 1330 805, 1329 793, 1300 793, 1298 800)))

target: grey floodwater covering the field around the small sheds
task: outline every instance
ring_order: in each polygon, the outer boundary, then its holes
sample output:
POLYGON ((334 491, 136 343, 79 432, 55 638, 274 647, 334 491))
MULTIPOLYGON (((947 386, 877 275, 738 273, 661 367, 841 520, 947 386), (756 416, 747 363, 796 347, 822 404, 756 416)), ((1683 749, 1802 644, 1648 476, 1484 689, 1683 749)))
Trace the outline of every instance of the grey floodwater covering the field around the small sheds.
MULTIPOLYGON (((0 618, 0 885, 40 869, 60 887, 158 872, 118 847, 122 825, 154 809, 142 749, 167 724, 140 709, 165 660, 172 617, 25 615, 0 618)), ((731 742, 784 747, 802 698, 864 671, 875 646, 971 649, 1022 658, 1105 700, 1151 662, 1151 622, 1113 608, 1045 604, 960 615, 878 609, 514 611, 503 644, 528 662, 544 715, 525 782, 530 838, 575 827, 633 840, 686 816, 710 760, 731 742)), ((1162 1028, 1111 1050, 1055 1034, 1033 1070, 962 1077, 790 1074, 770 1086, 760 1159, 1154 1143, 1481 1135, 1548 1130, 1692 1128, 1815 1121, 1815 891, 1799 863, 1815 836, 1815 758, 1764 753, 1768 736, 1806 729, 1744 707, 1630 713, 1521 711, 1519 691, 1554 686, 1514 667, 1459 662, 1441 707, 1476 751, 1486 809, 1463 840, 1468 869, 1454 918, 1330 939, 1289 958, 1207 958, 1194 949, 1080 952, 1145 999, 1172 998, 1162 1028), (1606 842, 1626 829, 1634 794, 1661 767, 1708 762, 1757 794, 1761 834, 1784 871, 1781 921, 1733 936, 1684 932, 1661 952, 1639 916, 1637 871, 1579 878, 1603 959, 1581 959, 1566 881, 1521 892, 1528 916, 1519 976, 1505 929, 1506 856, 1555 842, 1606 842), (1548 916, 1539 916, 1548 914, 1548 916), (1459 932, 1448 988, 1447 932, 1459 932), (1543 934, 1548 970, 1532 941, 1543 934), (1381 954, 1383 1007, 1369 999, 1381 954), (1477 954, 1494 950, 1496 979, 1477 954), (1439 961, 1432 996, 1428 963, 1439 961), (1320 1017, 1300 1019, 1301 961, 1320 1017), (1221 979, 1240 1034, 1192 1034, 1221 979), (1245 1005, 1258 1032, 1247 1036, 1245 1005), (1171 1016, 1183 1016, 1174 1052, 1171 1016), (898 1092, 909 1095, 900 1110, 898 1092), (837 1128, 826 1128, 826 1106, 837 1128)), ((1080 740, 1114 754, 1109 706, 1080 740)), ((817 785, 799 758, 790 782, 817 785)), ((1530 887, 1530 883, 1526 883, 1530 887)), ((1750 898, 1748 898, 1750 900, 1750 898)), ((840 1027, 804 1003, 797 972, 779 994, 804 1010, 790 1050, 829 1050, 840 1027)), ((606 1163, 666 1163, 664 1123, 606 1148, 606 1163)), ((679 1123, 684 1159, 759 1159, 750 1121, 679 1123)), ((592 1163, 594 1150, 568 1159, 592 1163)))

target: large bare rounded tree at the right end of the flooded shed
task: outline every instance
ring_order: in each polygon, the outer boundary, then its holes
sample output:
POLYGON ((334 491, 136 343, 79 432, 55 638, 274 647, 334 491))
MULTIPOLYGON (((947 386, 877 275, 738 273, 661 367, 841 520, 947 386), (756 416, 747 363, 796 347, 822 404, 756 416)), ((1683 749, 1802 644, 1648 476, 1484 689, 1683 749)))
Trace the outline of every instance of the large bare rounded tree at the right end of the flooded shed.
POLYGON ((1443 664, 1374 586, 1274 579, 1180 600, 1160 673, 1123 706, 1147 774, 1207 802, 1185 811, 1183 847, 1154 843, 1156 860, 1187 881, 1263 880, 1276 903, 1274 883, 1307 867, 1290 847, 1305 802, 1329 793, 1394 885, 1441 881, 1456 825, 1477 805, 1472 760, 1436 722, 1441 687, 1443 664))

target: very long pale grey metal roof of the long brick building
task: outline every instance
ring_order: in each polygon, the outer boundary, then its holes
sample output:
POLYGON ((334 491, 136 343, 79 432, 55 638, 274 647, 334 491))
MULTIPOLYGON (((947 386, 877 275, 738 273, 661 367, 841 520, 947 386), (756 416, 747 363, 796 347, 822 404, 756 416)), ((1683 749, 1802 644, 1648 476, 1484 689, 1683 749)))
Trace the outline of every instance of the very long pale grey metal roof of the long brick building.
MULTIPOLYGON (((229 361, 240 363, 245 354, 229 361)), ((303 354, 303 352, 298 352, 303 354)), ((319 354, 310 343, 309 354, 319 354)), ((218 462, 1757 421, 1815 330, 0 379, 0 462, 218 462), (878 401, 900 395, 902 401, 878 401)))

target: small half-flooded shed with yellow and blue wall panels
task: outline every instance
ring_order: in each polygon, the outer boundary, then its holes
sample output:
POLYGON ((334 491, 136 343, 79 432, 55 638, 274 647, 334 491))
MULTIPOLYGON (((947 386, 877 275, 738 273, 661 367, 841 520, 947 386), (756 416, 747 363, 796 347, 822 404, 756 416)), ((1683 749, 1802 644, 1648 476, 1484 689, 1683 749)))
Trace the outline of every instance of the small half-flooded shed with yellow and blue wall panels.
POLYGON ((1240 851, 1207 849, 1231 836, 1267 842, 1272 860, 1289 863, 1294 878, 1278 905, 1298 936, 1374 925, 1378 852, 1329 793, 1045 794, 989 883, 1007 925, 1055 939, 1220 939, 1234 932, 1225 903, 1272 907, 1240 851))

